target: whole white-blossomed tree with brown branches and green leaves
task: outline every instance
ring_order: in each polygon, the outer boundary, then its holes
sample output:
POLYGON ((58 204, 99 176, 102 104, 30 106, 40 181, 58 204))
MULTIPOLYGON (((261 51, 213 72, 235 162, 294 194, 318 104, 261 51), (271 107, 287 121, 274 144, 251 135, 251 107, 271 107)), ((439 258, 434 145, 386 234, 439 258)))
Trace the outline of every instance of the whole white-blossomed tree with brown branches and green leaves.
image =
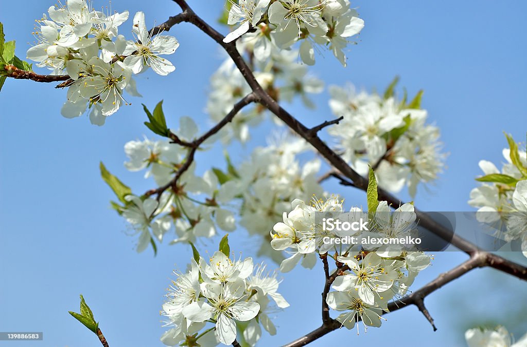
MULTIPOLYGON (((281 280, 269 265, 233 257, 225 232, 237 226, 260 236, 257 255, 280 264, 282 273, 297 264, 314 268, 320 263, 321 325, 286 346, 306 345, 341 328, 357 333, 379 328, 385 314, 408 305, 415 305, 436 330, 425 298, 475 268, 490 267, 527 280, 521 264, 458 236, 413 202, 394 195, 408 189, 415 196, 417 187, 437 179, 444 167, 440 131, 421 108, 422 91, 398 98, 397 79, 384 94, 333 86, 329 105, 335 118, 313 127, 281 106, 300 99, 314 107, 310 95, 324 88, 309 74, 317 55, 330 51, 346 66, 344 52, 356 44, 353 38, 364 27, 348 0, 229 0, 220 18, 231 28, 227 35, 203 21, 186 1, 173 2, 181 12, 150 29, 147 23, 153 21, 136 13, 128 37, 120 34, 127 31, 128 11, 97 11, 85 0, 49 7, 36 22, 37 42, 26 54, 38 68, 50 69, 48 75, 34 72, 32 64, 15 56, 15 43, 6 42, 0 24, 0 88, 7 79, 58 83, 56 88, 67 88, 61 114, 87 114, 97 126, 131 105, 125 92, 140 96, 135 75, 149 68, 161 76, 174 71, 168 60, 179 47, 168 35, 173 26, 195 26, 228 55, 211 77, 206 107, 211 128, 200 131, 192 118, 180 117, 179 128, 171 129, 162 102, 152 111, 143 105, 145 126, 160 139, 125 144, 125 166, 144 171, 155 182, 152 189, 132 192, 101 163, 102 178, 116 195, 112 207, 131 224, 138 252, 148 247, 157 252, 170 234, 171 244, 192 249, 188 269, 174 272, 177 278, 162 307, 169 327, 161 336, 164 344, 252 346, 264 330, 277 334, 270 312, 289 307, 287 293, 278 293, 281 280), (245 143, 251 127, 266 117, 286 128, 287 135, 256 148, 238 166, 226 154, 226 169, 211 167, 196 174, 203 151, 218 142, 245 143), (327 131, 333 142, 321 139, 320 131, 327 131), (303 162, 299 156, 306 153, 311 159, 303 162), (331 169, 320 172, 321 161, 331 169), (322 188, 328 179, 365 191, 367 210, 345 208, 343 199, 322 188), (327 216, 364 230, 328 229, 327 216), (432 256, 415 244, 370 240, 413 239, 417 225, 468 259, 410 291, 432 256), (223 234, 218 250, 202 257, 197 241, 218 234, 223 234), (333 242, 338 239, 368 241, 333 242)), ((520 244, 527 256, 527 155, 512 137, 505 139, 506 164, 500 170, 489 161, 480 162, 481 185, 472 190, 469 203, 478 208, 478 221, 501 223, 501 239, 520 244)), ((82 296, 80 311, 70 313, 108 346, 82 296)), ((504 328, 471 329, 465 337, 470 345, 508 338, 504 328)))

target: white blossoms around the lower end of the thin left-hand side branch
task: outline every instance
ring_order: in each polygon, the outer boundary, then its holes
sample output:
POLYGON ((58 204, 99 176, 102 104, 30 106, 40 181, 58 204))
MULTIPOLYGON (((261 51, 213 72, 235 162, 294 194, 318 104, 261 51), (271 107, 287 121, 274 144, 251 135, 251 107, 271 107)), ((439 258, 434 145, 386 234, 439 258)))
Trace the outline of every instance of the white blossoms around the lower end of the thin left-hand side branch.
MULTIPOLYGON (((173 131, 182 140, 191 140, 198 126, 190 117, 181 117, 180 128, 173 131)), ((124 146, 130 171, 145 171, 145 178, 152 177, 159 186, 170 182, 186 158, 187 148, 168 141, 149 139, 130 141, 124 146)), ((235 230, 232 212, 220 207, 233 196, 229 186, 220 185, 212 170, 203 176, 194 174, 193 163, 178 180, 177 187, 163 192, 160 199, 130 196, 131 203, 119 207, 122 216, 139 233, 138 252, 146 249, 152 237, 161 242, 167 231, 175 229, 177 238, 172 243, 196 241, 197 237, 210 238, 217 229, 235 230), (200 200, 197 200, 201 198, 200 200), (150 233, 150 230, 152 234, 150 233)))

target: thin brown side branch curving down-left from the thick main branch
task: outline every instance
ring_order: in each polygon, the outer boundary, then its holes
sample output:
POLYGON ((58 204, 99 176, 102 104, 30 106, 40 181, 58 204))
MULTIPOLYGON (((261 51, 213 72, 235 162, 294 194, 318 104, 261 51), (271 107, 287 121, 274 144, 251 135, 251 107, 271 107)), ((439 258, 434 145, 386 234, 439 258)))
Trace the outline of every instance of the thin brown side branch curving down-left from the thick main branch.
POLYGON ((214 134, 217 134, 218 131, 220 131, 223 127, 229 124, 232 121, 232 118, 234 118, 243 107, 257 100, 258 98, 256 97, 254 93, 250 93, 246 95, 240 101, 238 101, 238 103, 236 103, 232 107, 229 113, 225 117, 223 117, 223 119, 221 119, 215 126, 210 128, 206 133, 204 133, 199 138, 191 142, 183 141, 179 139, 177 135, 171 133, 170 138, 172 139, 172 142, 180 144, 185 147, 189 147, 190 148, 189 154, 187 155, 187 158, 185 159, 183 165, 178 169, 178 171, 175 172, 175 176, 170 182, 168 182, 166 185, 161 186, 157 189, 151 189, 145 192, 144 195, 149 197, 149 196, 156 194, 158 201, 159 201, 159 199, 161 198, 161 194, 168 188, 172 187, 173 191, 177 191, 178 180, 184 174, 184 172, 186 172, 189 169, 190 165, 194 161, 194 155, 196 154, 196 151, 198 150, 199 146, 201 146, 203 142, 208 140, 214 134))

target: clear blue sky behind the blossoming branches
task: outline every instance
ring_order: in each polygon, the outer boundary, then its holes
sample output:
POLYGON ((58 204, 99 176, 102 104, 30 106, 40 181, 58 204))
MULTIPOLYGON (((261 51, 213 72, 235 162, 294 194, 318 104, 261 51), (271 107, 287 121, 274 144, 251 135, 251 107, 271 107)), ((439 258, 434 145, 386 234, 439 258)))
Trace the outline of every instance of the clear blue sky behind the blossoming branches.
MULTIPOLYGON (((190 0, 195 11, 214 21, 222 2, 190 0), (214 3, 212 5, 212 3, 214 3)), ((7 39, 16 39, 18 56, 25 57, 33 42, 34 19, 53 3, 30 0, 2 2, 0 21, 7 39)), ((105 6, 99 0, 94 7, 105 6)), ((467 198, 480 174, 477 162, 503 161, 502 131, 525 139, 525 81, 527 3, 490 1, 358 1, 366 22, 360 42, 349 52, 343 68, 333 56, 317 58, 313 73, 327 85, 384 88, 395 75, 410 94, 423 88, 424 108, 442 130, 448 168, 436 186, 421 189, 416 206, 424 210, 470 210, 467 198)), ((149 3, 113 0, 116 11, 144 11, 147 23, 165 21, 179 8, 169 0, 149 3)), ((131 28, 131 19, 122 30, 131 28)), ((220 28, 227 33, 227 28, 220 28)), ((201 130, 208 126, 203 113, 211 73, 220 64, 217 46, 198 29, 178 25, 171 32, 181 43, 171 61, 177 70, 167 78, 145 74, 138 78, 144 98, 113 115, 104 127, 90 125, 86 117, 65 119, 60 107, 65 90, 31 81, 7 80, 0 93, 0 331, 43 331, 44 341, 0 345, 97 345, 95 336, 76 322, 68 310, 78 310, 82 293, 100 321, 110 345, 161 345, 159 310, 174 268, 184 269, 190 250, 163 244, 157 257, 151 251, 137 254, 134 240, 125 235, 125 222, 109 208, 112 193, 99 177, 99 161, 133 187, 144 192, 153 187, 141 174, 125 170, 123 145, 150 136, 141 103, 153 107, 164 99, 165 114, 177 127, 178 117, 189 115, 201 130)), ((316 111, 298 105, 287 108, 307 125, 330 117, 327 93, 317 96, 316 111)), ((262 126, 267 132, 269 124, 262 126)), ((262 131, 264 132, 264 131, 262 131)), ((260 134, 262 133, 260 132, 260 134)), ((246 148, 231 151, 240 162, 265 138, 255 134, 246 148)), ((206 163, 222 165, 219 150, 198 157, 198 170, 206 163), (208 155, 208 157, 206 157, 208 155)), ((361 205, 364 196, 328 182, 328 191, 339 193, 350 204, 361 205)), ((402 195, 408 199, 406 195, 402 195)), ((256 242, 246 232, 231 235, 231 249, 245 256, 256 253, 256 242)), ((212 251, 218 240, 200 244, 212 251)), ((460 253, 436 254, 434 264, 417 281, 425 283, 465 260, 460 253)), ((521 259, 521 258, 520 258, 521 259)), ((320 325, 321 267, 296 269, 284 276, 280 293, 291 307, 274 320, 278 335, 264 335, 260 345, 279 345, 320 325)), ((414 287, 414 288, 417 288, 414 287)), ((313 345, 372 343, 380 345, 458 345, 464 327, 475 321, 508 324, 517 337, 525 323, 519 315, 527 302, 525 283, 492 270, 474 270, 427 298, 438 327, 431 326, 415 309, 387 315, 382 329, 369 329, 359 337, 353 331, 330 333, 313 345), (523 294, 522 294, 523 292, 523 294), (509 317, 511 318, 511 317, 509 317), (511 322, 512 321, 512 322, 511 322), (523 326, 522 326, 523 324, 523 326)))

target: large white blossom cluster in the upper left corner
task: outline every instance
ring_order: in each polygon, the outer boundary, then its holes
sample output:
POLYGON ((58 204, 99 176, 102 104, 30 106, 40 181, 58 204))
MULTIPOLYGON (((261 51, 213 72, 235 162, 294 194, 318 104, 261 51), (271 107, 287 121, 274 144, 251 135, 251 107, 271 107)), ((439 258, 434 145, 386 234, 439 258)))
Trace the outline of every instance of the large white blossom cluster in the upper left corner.
POLYGON ((160 55, 174 53, 178 40, 149 33, 143 12, 133 18, 132 40, 118 34, 128 11, 106 14, 86 0, 67 0, 65 6, 51 6, 47 13, 49 19, 44 14, 37 21, 33 33, 37 43, 27 50, 27 58, 51 69, 53 75, 70 76, 64 84, 69 86, 61 110, 64 117, 78 117, 90 108, 91 123, 103 125, 106 116, 129 104, 123 90, 140 96, 133 74, 151 67, 165 76, 175 69, 160 55))

